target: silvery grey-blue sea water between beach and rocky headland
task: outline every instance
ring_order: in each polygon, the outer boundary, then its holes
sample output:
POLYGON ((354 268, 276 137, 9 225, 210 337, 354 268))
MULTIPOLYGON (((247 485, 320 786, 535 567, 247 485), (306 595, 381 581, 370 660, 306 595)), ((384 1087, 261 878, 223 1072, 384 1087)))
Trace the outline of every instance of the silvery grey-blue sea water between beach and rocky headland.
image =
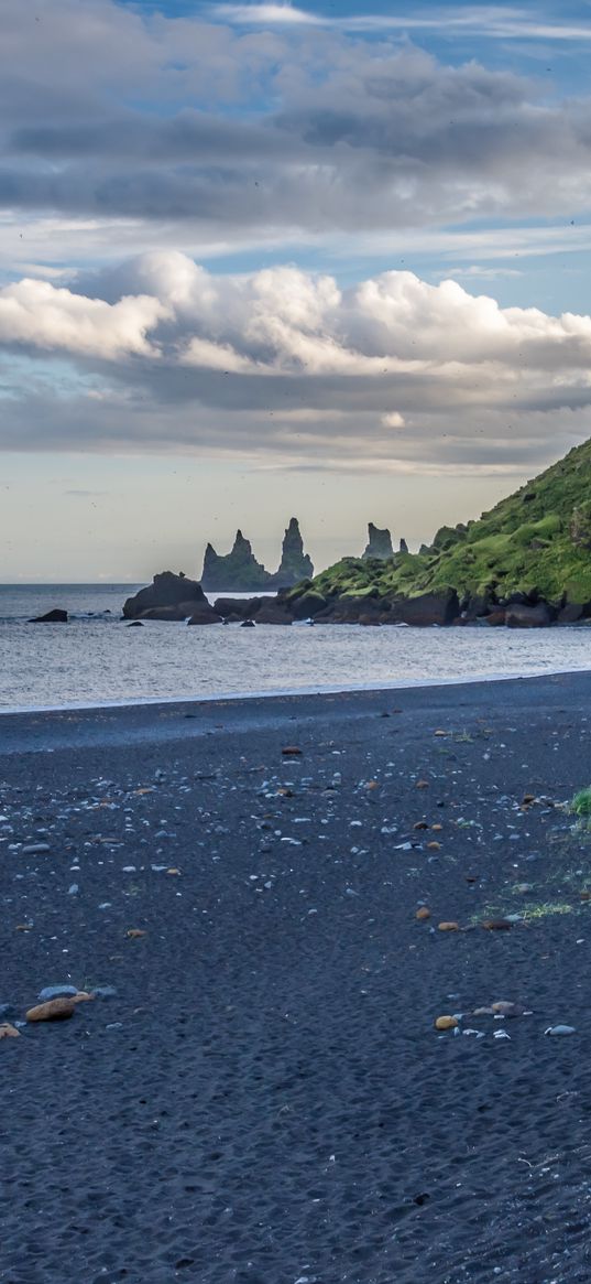
POLYGON ((129 629, 121 609, 138 587, 0 586, 0 710, 591 668, 591 625, 520 632, 149 621, 129 629), (71 612, 69 624, 27 623, 54 606, 71 612))

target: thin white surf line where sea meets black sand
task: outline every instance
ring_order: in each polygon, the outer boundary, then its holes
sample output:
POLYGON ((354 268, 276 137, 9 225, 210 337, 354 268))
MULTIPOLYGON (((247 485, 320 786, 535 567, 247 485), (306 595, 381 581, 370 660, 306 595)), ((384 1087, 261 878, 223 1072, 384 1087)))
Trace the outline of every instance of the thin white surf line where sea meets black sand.
POLYGON ((523 673, 485 673, 485 674, 470 674, 469 677, 458 678, 399 678, 391 682, 382 682, 378 686, 373 683, 344 683, 342 686, 310 686, 310 687, 281 687, 281 688, 263 688, 262 691, 221 691, 213 692, 204 696, 141 696, 135 700, 100 700, 100 701, 68 701, 63 705, 14 705, 4 706, 0 705, 0 719, 3 716, 21 716, 27 714, 67 714, 67 713, 92 713, 100 710, 132 710, 153 707, 155 705, 174 706, 174 705, 206 705, 206 704, 235 704, 236 701, 249 701, 249 700, 273 700, 273 698, 294 698, 297 696, 310 697, 310 696, 332 696, 332 695, 378 695, 381 691, 414 691, 424 688, 438 688, 438 687, 459 687, 459 686, 486 686, 487 683, 497 682, 527 682, 541 678, 553 678, 562 674, 581 675, 591 673, 591 665, 588 669, 540 669, 535 672, 523 673))

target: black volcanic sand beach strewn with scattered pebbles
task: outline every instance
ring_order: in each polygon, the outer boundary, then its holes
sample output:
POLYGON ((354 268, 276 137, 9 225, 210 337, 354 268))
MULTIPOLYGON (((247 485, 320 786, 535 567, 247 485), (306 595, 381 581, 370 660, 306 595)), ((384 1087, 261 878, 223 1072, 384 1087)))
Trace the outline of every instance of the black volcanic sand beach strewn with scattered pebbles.
POLYGON ((587 1281, 590 707, 3 715, 0 1003, 117 989, 0 1043, 3 1284, 587 1281), (495 1000, 532 1014, 433 1028, 495 1000))

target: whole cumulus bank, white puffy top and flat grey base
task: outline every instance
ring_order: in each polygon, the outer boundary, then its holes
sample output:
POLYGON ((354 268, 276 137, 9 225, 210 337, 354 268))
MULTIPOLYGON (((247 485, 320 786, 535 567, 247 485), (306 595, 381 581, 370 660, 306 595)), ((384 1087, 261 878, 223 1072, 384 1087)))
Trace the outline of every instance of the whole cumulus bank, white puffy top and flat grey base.
POLYGON ((21 385, 9 362, 5 449, 478 473, 558 452, 591 407, 590 316, 501 308, 404 271, 340 289, 290 266, 215 276, 158 252, 76 289, 5 288, 3 345, 28 362, 21 385), (53 379, 51 353, 68 377, 53 379))

